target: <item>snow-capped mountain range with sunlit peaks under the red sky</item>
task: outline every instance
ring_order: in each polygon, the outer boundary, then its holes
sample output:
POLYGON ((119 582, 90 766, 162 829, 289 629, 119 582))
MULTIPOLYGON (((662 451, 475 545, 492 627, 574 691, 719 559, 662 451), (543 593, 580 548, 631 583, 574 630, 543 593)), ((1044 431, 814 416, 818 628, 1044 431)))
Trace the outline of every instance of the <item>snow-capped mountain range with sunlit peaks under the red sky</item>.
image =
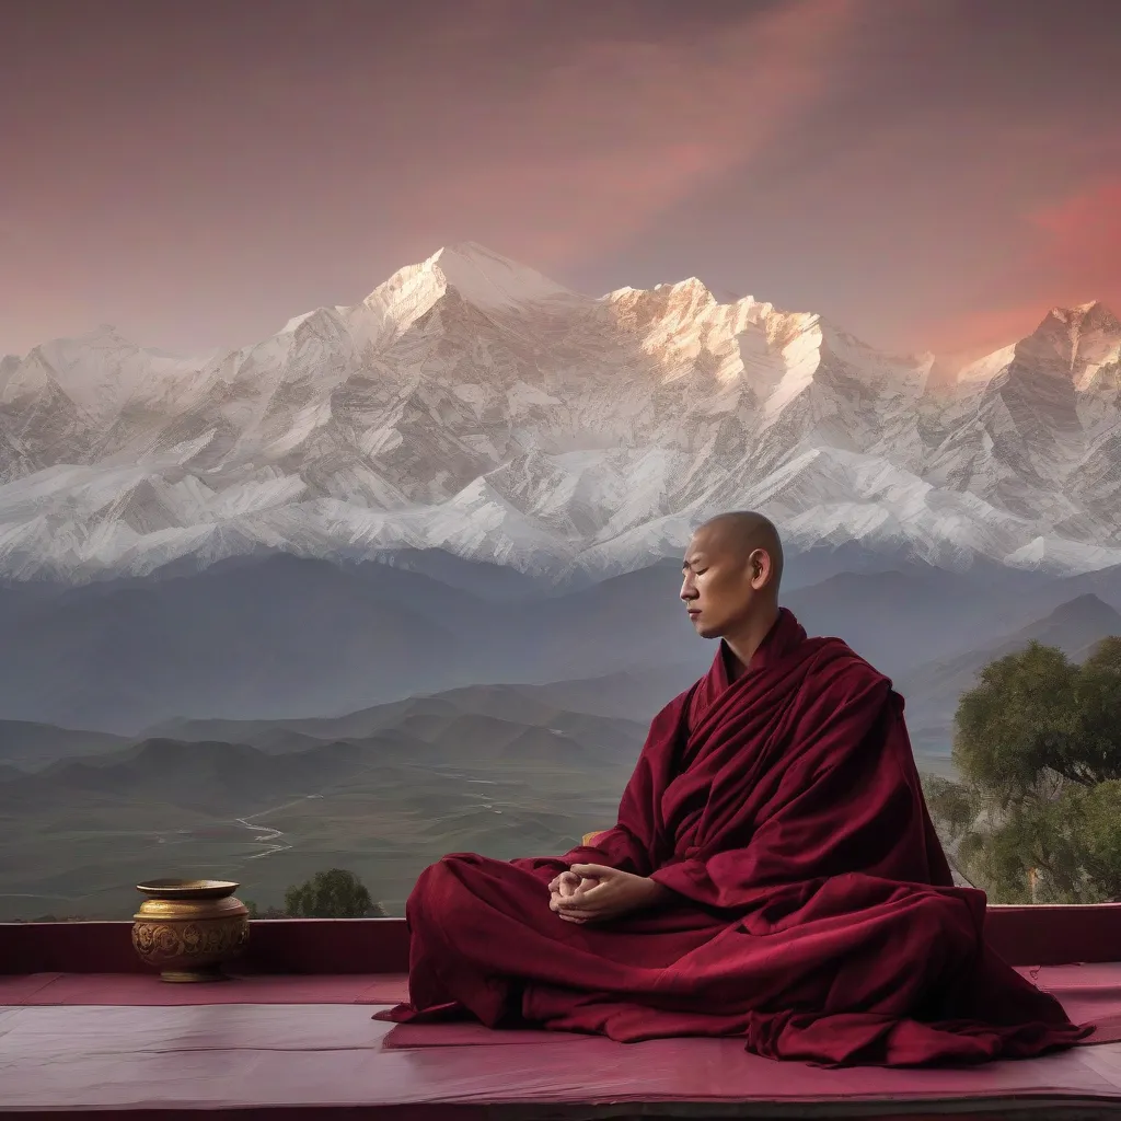
POLYGON ((726 509, 789 547, 1121 564, 1121 324, 1050 312, 946 385, 697 279, 593 298, 442 249, 205 360, 112 328, 0 361, 0 575, 442 548, 604 576, 726 509))

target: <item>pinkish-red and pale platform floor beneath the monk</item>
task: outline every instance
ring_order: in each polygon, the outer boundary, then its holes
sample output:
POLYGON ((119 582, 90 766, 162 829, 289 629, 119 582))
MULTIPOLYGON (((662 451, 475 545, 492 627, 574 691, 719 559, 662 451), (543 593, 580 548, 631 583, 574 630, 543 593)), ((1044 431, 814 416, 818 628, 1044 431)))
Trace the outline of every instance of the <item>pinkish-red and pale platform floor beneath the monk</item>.
MULTIPOLYGON (((1121 964, 1025 970, 1121 1038, 1121 964)), ((1121 1118, 1121 1043, 955 1071, 826 1071, 734 1039, 643 1044, 371 1019, 400 974, 0 976, 0 1114, 400 1118, 1121 1118)))

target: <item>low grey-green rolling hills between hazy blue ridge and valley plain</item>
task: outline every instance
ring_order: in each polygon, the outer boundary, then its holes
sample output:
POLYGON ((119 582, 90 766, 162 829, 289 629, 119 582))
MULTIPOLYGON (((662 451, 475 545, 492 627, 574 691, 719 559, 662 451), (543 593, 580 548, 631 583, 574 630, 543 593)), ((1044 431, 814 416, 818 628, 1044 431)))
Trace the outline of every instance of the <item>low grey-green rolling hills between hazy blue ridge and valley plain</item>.
MULTIPOLYGON (((8 805, 86 795, 149 800, 211 813, 258 810, 282 797, 305 797, 385 766, 462 768, 541 763, 594 773, 599 766, 632 766, 645 722, 565 712, 526 701, 520 712, 502 703, 516 689, 479 695, 463 689, 442 697, 354 713, 302 728, 263 722, 185 724, 178 738, 150 736, 103 754, 58 759, 34 772, 16 772, 2 798, 8 805), (482 711, 492 707, 493 713, 482 711), (503 715, 498 715, 502 712, 503 715), (308 734, 308 729, 318 734, 308 734), (225 738, 216 739, 222 731, 225 738), (186 739, 182 733, 209 733, 186 739)), ((417 780, 423 785, 421 780, 417 780)))

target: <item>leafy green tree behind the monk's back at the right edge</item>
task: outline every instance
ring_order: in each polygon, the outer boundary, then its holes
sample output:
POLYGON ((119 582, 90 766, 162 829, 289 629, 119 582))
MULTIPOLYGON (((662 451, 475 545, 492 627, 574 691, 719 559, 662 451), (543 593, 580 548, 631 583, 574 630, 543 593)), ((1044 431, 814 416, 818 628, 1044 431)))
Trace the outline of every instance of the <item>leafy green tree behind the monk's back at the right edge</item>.
POLYGON ((927 779, 956 863, 994 902, 1121 899, 1121 637, 1080 666, 1038 642, 957 706, 960 782, 927 779))

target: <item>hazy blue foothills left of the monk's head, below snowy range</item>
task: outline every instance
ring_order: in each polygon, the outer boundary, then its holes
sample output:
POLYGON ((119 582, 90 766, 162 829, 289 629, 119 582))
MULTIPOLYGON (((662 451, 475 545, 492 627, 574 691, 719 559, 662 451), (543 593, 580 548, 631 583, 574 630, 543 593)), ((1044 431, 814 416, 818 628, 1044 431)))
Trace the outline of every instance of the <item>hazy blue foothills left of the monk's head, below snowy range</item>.
MULTIPOLYGON (((460 559, 426 566, 455 568, 491 595, 506 580, 460 559)), ((136 736, 177 714, 295 720, 647 668, 692 650, 703 660, 711 652, 678 585, 676 566, 655 566, 563 596, 527 599, 511 580, 508 595, 484 600, 397 565, 285 554, 120 586, 9 585, 0 622, 20 640, 0 646, 0 715, 136 736)))

